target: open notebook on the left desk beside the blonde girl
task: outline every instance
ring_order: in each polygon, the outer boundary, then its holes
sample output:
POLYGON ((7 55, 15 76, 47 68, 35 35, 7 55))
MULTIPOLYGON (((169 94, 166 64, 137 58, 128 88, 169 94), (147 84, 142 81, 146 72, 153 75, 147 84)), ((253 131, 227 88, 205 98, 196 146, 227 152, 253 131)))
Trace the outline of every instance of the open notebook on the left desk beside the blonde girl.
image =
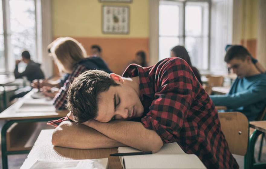
POLYGON ((55 112, 53 100, 42 99, 25 99, 17 112, 55 112))

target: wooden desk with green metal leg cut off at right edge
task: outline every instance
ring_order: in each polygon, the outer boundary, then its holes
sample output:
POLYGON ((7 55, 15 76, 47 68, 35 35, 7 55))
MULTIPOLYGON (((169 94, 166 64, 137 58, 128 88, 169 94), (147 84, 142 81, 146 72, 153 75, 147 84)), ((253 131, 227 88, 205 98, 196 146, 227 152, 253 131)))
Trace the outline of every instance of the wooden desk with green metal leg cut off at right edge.
POLYGON ((249 138, 247 154, 250 157, 249 159, 251 159, 251 162, 249 162, 249 166, 247 168, 266 168, 266 163, 255 163, 254 161, 255 143, 259 135, 266 133, 266 121, 252 121, 249 122, 249 126, 254 128, 255 131, 251 134, 249 138))

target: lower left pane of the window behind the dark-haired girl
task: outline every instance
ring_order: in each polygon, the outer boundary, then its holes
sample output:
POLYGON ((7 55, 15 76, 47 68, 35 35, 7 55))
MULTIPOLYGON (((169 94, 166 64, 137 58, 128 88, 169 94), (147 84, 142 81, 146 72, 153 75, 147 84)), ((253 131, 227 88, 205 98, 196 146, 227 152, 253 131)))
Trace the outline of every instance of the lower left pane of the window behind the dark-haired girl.
POLYGON ((159 37, 159 60, 170 57, 170 50, 178 44, 177 37, 159 37))

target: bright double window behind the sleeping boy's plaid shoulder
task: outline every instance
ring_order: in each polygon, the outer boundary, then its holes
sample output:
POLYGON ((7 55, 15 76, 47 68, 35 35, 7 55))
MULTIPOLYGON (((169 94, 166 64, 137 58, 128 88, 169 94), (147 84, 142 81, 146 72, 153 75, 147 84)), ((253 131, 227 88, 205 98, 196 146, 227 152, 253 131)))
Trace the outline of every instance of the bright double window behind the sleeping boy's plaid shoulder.
POLYGON ((160 1, 159 60, 185 46, 192 65, 209 69, 209 1, 160 1))

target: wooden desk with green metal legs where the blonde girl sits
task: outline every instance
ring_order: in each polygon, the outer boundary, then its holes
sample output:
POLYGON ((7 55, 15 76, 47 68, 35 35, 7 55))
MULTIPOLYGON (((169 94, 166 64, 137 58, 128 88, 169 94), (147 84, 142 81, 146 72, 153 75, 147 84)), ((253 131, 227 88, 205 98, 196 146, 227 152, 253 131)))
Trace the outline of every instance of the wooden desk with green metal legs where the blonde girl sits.
POLYGON ((15 104, 8 107, 2 113, 0 113, 0 120, 9 120, 6 121, 5 125, 2 127, 2 166, 3 169, 8 168, 8 160, 7 155, 12 154, 24 154, 28 153, 29 150, 21 150, 21 151, 7 151, 6 147, 6 131, 9 127, 14 123, 27 123, 27 122, 42 122, 59 119, 61 117, 66 116, 68 111, 56 111, 56 112, 16 112, 16 110, 23 104, 23 100, 28 99, 33 94, 33 91, 30 91, 24 97, 19 99, 15 104))

